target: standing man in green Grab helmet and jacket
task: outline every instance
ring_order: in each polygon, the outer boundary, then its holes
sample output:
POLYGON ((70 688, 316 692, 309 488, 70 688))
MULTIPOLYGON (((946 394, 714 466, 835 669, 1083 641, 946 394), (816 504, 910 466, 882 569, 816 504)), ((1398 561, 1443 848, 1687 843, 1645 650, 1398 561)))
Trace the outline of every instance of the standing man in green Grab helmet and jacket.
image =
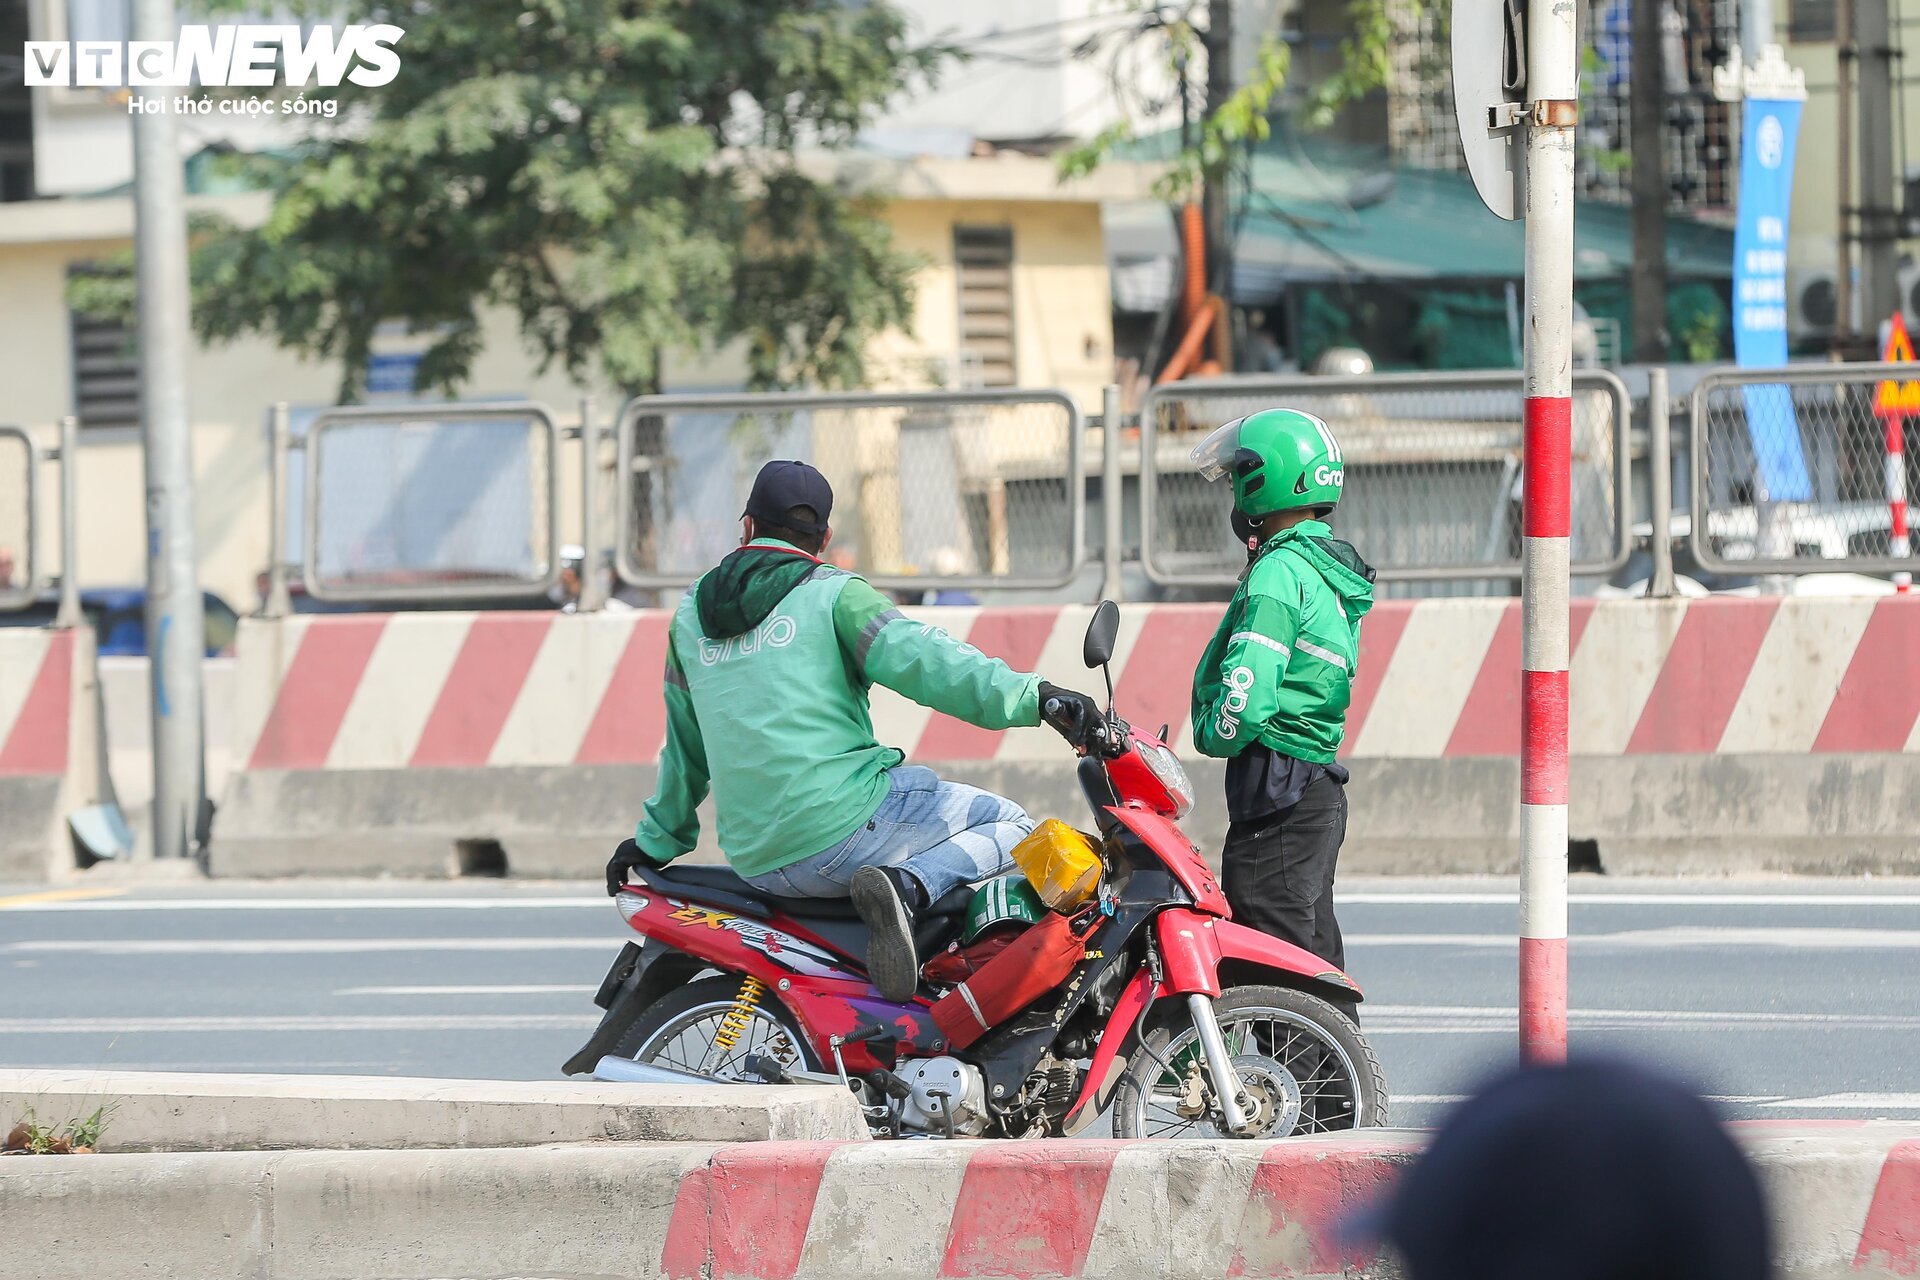
POLYGON ((1325 422, 1267 409, 1194 449, 1233 478, 1246 572, 1194 672, 1194 747, 1227 760, 1233 917, 1346 967, 1332 877, 1346 841, 1346 733, 1373 570, 1327 528, 1346 468, 1325 422))

